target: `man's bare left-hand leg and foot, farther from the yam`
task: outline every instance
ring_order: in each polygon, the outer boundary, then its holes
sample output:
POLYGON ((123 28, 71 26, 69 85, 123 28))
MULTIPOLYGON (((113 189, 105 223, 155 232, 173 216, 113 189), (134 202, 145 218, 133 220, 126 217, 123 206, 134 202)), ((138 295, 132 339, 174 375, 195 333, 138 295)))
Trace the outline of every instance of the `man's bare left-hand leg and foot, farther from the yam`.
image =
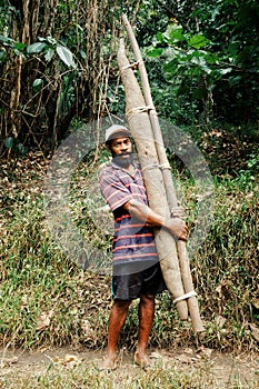
POLYGON ((101 370, 113 370, 116 368, 116 347, 120 331, 124 325, 128 308, 131 301, 116 300, 110 312, 107 357, 101 370))

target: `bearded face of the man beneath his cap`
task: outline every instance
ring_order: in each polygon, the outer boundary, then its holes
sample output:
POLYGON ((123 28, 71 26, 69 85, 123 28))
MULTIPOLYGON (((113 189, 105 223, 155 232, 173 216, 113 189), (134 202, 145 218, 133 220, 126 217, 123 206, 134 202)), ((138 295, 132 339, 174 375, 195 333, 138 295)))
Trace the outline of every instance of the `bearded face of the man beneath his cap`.
POLYGON ((128 137, 112 139, 110 151, 113 161, 122 168, 128 168, 133 161, 132 143, 128 137))

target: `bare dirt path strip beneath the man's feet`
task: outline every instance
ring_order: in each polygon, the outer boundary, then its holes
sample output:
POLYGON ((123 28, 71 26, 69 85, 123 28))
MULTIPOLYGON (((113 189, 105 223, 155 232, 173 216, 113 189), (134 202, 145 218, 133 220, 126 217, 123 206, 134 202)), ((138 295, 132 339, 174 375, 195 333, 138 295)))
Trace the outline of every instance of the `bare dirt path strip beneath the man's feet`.
MULTIPOLYGON (((165 372, 169 369, 175 369, 175 371, 182 371, 185 373, 191 373, 193 370, 208 371, 210 376, 213 376, 212 387, 220 389, 259 387, 259 356, 255 353, 233 356, 206 348, 200 350, 182 348, 173 351, 153 349, 149 350, 149 352, 153 363, 151 369, 159 369, 159 371, 162 369, 165 372), (236 386, 231 383, 233 381, 236 386), (258 386, 255 382, 257 382, 258 386)), ((0 349, 0 387, 1 381, 3 382, 7 378, 10 379, 10 377, 21 376, 28 378, 36 375, 48 373, 50 366, 53 365, 63 369, 63 373, 73 369, 74 365, 91 366, 96 369, 98 376, 98 366, 103 359, 103 356, 104 351, 101 350, 91 351, 86 349, 72 349, 70 347, 57 349, 42 348, 33 352, 23 351, 21 349, 0 349)), ((123 350, 118 357, 118 368, 114 372, 111 372, 111 375, 122 383, 123 379, 129 379, 129 376, 137 377, 140 368, 132 362, 132 352, 123 350)), ((82 386, 79 387, 82 388, 82 386)), ((123 385, 121 385, 121 388, 122 387, 123 385)), ((208 383, 208 387, 201 387, 208 389, 212 388, 210 383, 208 383)), ((83 388, 86 388, 86 386, 83 386, 83 388)), ((89 388, 92 388, 92 386, 89 386, 89 388)), ((197 388, 197 386, 193 388, 197 388)))

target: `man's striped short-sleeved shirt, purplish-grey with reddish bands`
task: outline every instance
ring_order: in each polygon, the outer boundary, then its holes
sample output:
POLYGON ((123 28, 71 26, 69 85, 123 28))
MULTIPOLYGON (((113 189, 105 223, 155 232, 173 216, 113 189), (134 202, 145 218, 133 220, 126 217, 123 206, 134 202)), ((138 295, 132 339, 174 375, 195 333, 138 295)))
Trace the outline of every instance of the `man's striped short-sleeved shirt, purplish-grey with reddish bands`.
MULTIPOLYGON (((114 217, 114 237, 112 245, 113 265, 135 261, 148 261, 148 266, 158 261, 152 226, 135 219, 123 209, 132 199, 148 205, 141 170, 135 164, 135 176, 111 163, 100 173, 100 187, 114 217)), ((142 263, 143 265, 143 263, 142 263)), ((140 266, 142 268, 142 266, 140 266)))

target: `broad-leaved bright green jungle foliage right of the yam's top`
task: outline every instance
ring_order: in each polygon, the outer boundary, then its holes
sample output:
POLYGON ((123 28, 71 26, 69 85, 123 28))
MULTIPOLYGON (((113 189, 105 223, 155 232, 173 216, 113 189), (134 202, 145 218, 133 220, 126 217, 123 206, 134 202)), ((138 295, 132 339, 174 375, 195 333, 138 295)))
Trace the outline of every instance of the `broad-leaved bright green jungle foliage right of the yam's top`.
POLYGON ((155 61, 162 74, 156 88, 162 82, 158 90, 165 114, 179 119, 176 113, 180 113, 183 122, 195 117, 206 122, 256 123, 258 3, 175 1, 165 8, 168 26, 146 49, 147 56, 160 59, 155 61), (166 99, 165 107, 161 90, 173 96, 175 110, 172 100, 167 106, 166 99))

